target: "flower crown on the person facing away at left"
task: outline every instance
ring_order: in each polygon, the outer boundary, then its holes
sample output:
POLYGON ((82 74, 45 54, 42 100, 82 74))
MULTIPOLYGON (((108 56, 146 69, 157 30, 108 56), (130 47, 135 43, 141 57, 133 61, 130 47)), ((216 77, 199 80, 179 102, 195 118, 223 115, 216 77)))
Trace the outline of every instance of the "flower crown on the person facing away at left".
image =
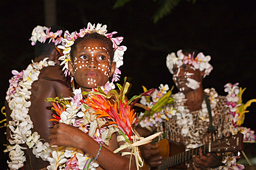
POLYGON ((32 32, 31 38, 29 39, 32 41, 31 45, 35 45, 37 41, 40 43, 45 43, 46 39, 50 39, 49 43, 52 41, 55 45, 62 43, 62 30, 57 30, 57 32, 50 32, 50 30, 51 28, 37 25, 32 32), (44 32, 45 30, 46 32, 44 32))

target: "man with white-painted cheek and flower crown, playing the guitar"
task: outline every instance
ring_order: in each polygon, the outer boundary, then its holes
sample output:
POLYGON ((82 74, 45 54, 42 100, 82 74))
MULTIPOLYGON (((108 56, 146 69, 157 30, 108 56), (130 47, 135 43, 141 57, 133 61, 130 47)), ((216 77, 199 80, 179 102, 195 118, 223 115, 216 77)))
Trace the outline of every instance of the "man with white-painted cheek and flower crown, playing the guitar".
MULTIPOLYGON (((172 95, 174 103, 166 103, 163 109, 150 115, 145 112, 140 120, 140 127, 145 129, 137 128, 140 134, 147 136, 155 130, 163 131, 165 138, 183 143, 185 149, 194 149, 224 136, 237 134, 237 131, 246 134, 245 140, 255 140, 254 131, 241 127, 244 114, 242 111, 255 102, 255 99, 246 103, 245 107, 239 105, 239 94, 242 92, 237 84, 226 84, 227 97, 218 96, 213 88, 203 90, 203 78, 212 70, 209 61, 210 56, 189 50, 179 50, 176 54, 173 52, 167 56, 167 67, 173 74, 173 81, 179 93, 172 95)), ((165 94, 171 94, 170 91, 167 92, 167 85, 161 85, 159 88, 152 94, 151 100, 144 97, 140 103, 149 105, 154 110, 154 105, 159 105, 165 94)), ((159 152, 158 145, 149 144, 142 148, 143 156, 151 167, 161 164, 162 156, 156 156, 159 152)), ((243 169, 235 160, 235 157, 221 159, 213 153, 203 155, 200 151, 199 156, 193 158, 193 163, 188 164, 188 169, 243 169)))

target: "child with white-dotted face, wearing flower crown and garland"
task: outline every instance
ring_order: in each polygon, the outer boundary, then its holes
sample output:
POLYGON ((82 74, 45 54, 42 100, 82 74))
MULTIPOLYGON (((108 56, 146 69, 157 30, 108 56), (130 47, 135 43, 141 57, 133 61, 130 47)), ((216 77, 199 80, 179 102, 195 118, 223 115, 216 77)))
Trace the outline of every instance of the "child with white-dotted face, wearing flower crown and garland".
POLYGON ((69 34, 69 37, 63 40, 66 44, 59 46, 64 50, 64 63, 68 61, 65 67, 80 89, 75 89, 72 102, 66 105, 66 111, 61 111, 60 124, 50 130, 50 145, 65 147, 63 158, 68 159, 64 163, 63 159, 53 159, 50 161, 51 167, 136 169, 136 156, 131 153, 131 149, 123 149, 120 154, 113 153, 118 147, 125 146, 125 138, 119 134, 122 132, 117 133, 112 125, 104 126, 107 123, 105 119, 97 117, 91 107, 86 110, 84 104, 88 104, 88 100, 82 99, 82 92, 90 93, 98 86, 107 93, 109 89, 113 89, 113 82, 109 83, 109 78, 115 74, 113 79, 118 79, 117 74, 120 71, 117 67, 122 65, 122 55, 126 47, 118 46, 122 37, 113 38, 112 35, 116 32, 106 32, 106 25, 101 27, 98 24, 95 27, 89 23, 88 27, 79 33, 69 34), (81 152, 82 154, 79 154, 81 152))

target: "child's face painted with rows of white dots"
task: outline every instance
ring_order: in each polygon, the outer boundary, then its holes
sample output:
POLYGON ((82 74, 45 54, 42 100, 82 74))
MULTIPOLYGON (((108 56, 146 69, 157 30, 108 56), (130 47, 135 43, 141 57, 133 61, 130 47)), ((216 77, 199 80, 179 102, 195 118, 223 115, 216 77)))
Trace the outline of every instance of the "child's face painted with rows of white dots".
POLYGON ((87 91, 102 86, 111 75, 111 59, 106 43, 98 40, 81 41, 73 62, 75 81, 87 91))

